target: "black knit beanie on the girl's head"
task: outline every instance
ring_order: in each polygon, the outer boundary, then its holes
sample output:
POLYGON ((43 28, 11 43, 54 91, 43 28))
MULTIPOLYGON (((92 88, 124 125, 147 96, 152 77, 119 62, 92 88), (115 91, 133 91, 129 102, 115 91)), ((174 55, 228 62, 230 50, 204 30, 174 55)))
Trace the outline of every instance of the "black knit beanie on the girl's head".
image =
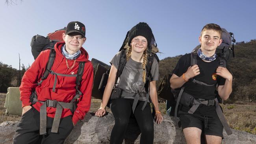
POLYGON ((128 45, 131 44, 132 42, 132 39, 134 37, 137 37, 137 36, 143 36, 147 39, 148 41, 148 47, 151 43, 151 40, 152 40, 152 30, 151 28, 148 26, 148 24, 146 22, 140 22, 139 24, 136 24, 136 26, 134 26, 130 32, 129 32, 129 36, 128 36, 128 45))

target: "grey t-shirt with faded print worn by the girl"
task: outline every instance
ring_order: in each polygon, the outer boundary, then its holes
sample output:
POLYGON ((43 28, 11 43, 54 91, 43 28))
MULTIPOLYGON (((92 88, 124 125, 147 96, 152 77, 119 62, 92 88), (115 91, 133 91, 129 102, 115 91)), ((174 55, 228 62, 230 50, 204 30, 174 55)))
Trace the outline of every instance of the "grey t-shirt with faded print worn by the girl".
MULTIPOLYGON (((110 61, 111 65, 114 65, 117 69, 119 66, 120 55, 121 52, 118 52, 110 61)), ((146 92, 144 87, 145 83, 143 83, 142 80, 143 68, 141 64, 142 63, 134 61, 132 58, 130 58, 124 66, 116 86, 128 93, 146 92)), ((158 62, 155 58, 153 60, 150 73, 152 74, 153 78, 151 80, 157 81, 159 77, 159 70, 158 62)))

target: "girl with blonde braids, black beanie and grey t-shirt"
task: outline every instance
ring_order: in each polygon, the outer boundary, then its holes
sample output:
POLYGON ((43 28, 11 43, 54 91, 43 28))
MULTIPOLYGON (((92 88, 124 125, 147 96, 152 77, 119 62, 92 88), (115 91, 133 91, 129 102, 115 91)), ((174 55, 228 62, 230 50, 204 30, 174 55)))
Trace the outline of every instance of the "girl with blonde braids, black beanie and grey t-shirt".
MULTIPOLYGON (((147 60, 148 48, 152 44, 153 33, 145 22, 140 22, 134 26, 128 35, 128 48, 126 48, 126 64, 122 74, 116 82, 117 69, 121 52, 118 52, 110 61, 111 69, 108 83, 106 85, 100 109, 95 112, 96 116, 106 114, 105 107, 111 96, 111 91, 118 88, 122 90, 120 98, 110 101, 110 108, 115 117, 115 126, 110 136, 111 144, 121 144, 124 139, 126 128, 128 127, 130 116, 133 114, 139 129, 141 130, 141 144, 152 144, 154 140, 154 122, 152 118, 149 97, 154 104, 156 111, 155 121, 160 124, 163 120, 158 108, 158 98, 156 93, 156 80, 158 80, 158 62, 154 58, 150 70, 151 79, 149 88, 147 86, 147 60)), ((153 39, 154 40, 154 39, 153 39)), ((113 94, 112 94, 113 95, 113 94)))

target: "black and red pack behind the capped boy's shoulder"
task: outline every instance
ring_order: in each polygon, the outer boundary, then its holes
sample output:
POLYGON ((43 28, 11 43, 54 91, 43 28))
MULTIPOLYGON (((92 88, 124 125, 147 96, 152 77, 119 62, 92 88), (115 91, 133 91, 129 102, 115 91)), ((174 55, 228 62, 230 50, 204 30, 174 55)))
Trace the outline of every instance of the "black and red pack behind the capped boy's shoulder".
POLYGON ((63 41, 62 34, 65 33, 65 31, 66 27, 60 30, 56 30, 53 33, 49 33, 47 37, 42 35, 34 35, 30 43, 31 52, 34 59, 36 59, 40 52, 43 50, 46 50, 47 48, 53 48, 57 42, 63 41))

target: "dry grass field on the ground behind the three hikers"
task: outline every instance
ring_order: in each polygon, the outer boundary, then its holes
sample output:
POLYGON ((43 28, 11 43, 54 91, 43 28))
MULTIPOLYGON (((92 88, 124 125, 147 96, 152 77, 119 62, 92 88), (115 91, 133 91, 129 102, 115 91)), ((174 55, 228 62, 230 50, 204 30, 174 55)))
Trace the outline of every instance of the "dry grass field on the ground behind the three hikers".
MULTIPOLYGON (((4 121, 19 121, 20 116, 5 114, 5 98, 6 94, 0 93, 0 123, 4 121)), ((100 107, 100 102, 101 100, 92 99, 90 112, 94 113, 100 107)), ((226 104, 221 106, 231 128, 256 135, 256 103, 226 104)), ((165 103, 159 103, 159 109, 162 114, 166 114, 165 103)), ((106 110, 111 113, 108 107, 106 110)))

